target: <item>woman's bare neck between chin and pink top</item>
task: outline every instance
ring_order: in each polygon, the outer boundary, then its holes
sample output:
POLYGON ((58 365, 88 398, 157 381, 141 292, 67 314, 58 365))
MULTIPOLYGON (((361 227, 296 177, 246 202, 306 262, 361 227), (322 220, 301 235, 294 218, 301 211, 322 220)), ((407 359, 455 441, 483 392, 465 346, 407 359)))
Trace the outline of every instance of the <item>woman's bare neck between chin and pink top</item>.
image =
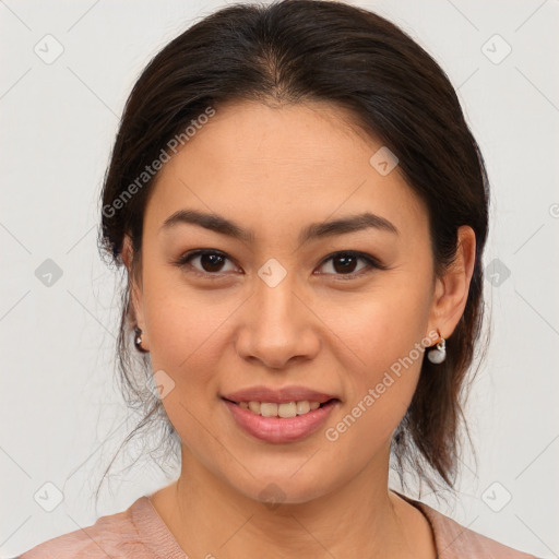
POLYGON ((421 514, 389 491, 388 452, 335 490, 273 504, 239 492, 183 448, 179 479, 151 500, 190 557, 417 558, 421 514))

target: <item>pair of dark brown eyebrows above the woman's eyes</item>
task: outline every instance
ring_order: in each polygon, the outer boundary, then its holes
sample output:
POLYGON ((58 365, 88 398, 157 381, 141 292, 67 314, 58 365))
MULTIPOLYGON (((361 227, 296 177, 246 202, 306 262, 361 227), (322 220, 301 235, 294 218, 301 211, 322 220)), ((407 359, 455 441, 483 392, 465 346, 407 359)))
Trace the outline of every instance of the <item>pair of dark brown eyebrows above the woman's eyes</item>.
MULTIPOLYGON (((205 229, 210 229, 245 242, 251 242, 254 240, 254 233, 252 230, 243 229, 235 222, 231 222, 218 214, 207 214, 197 210, 179 210, 175 212, 165 219, 159 231, 170 229, 178 224, 198 225, 205 229)), ((300 231, 298 240, 299 245, 304 245, 310 240, 332 237, 345 233, 359 231, 368 228, 400 235, 400 231, 392 222, 389 222, 380 215, 366 212, 330 222, 313 223, 300 231)))

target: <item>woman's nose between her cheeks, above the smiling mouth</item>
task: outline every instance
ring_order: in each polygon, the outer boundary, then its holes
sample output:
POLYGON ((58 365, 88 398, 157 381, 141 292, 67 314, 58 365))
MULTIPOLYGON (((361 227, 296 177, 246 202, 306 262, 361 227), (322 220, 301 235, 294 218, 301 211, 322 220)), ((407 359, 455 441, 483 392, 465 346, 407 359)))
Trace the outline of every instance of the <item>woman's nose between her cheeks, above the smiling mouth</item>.
POLYGON ((260 278, 243 306, 236 349, 243 359, 269 369, 284 369, 289 361, 314 358, 320 350, 320 320, 310 301, 296 293, 289 274, 275 286, 260 278))

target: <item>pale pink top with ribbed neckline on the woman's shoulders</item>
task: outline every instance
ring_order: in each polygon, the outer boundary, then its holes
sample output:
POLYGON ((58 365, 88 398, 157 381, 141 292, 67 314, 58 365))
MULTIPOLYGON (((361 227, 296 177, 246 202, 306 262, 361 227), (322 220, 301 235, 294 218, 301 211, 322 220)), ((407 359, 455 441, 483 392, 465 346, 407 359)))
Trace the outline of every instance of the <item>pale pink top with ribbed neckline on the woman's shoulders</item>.
MULTIPOLYGON (((397 491, 394 491, 397 492, 397 491)), ((473 532, 431 507, 400 495, 419 509, 435 534, 439 559, 537 559, 473 532)), ((147 496, 92 526, 49 539, 15 559, 189 559, 147 496)))

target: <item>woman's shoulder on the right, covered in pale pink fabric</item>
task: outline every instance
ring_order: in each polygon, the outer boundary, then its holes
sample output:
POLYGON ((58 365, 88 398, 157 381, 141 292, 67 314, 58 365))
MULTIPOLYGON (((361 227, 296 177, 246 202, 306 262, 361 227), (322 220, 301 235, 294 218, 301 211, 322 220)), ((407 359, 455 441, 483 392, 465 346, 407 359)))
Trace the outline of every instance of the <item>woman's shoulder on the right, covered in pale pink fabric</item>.
POLYGON ((418 508, 429 521, 440 559, 537 559, 534 555, 513 549, 474 532, 428 504, 397 495, 418 508))

